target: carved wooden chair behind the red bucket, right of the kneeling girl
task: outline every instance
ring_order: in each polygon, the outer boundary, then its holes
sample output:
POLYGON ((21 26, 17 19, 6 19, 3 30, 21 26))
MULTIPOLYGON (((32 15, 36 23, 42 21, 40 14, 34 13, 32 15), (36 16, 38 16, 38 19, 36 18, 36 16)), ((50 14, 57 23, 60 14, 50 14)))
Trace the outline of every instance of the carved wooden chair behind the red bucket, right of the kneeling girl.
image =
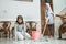
POLYGON ((36 31, 36 22, 34 21, 28 21, 26 23, 26 32, 31 35, 32 31, 36 31))

